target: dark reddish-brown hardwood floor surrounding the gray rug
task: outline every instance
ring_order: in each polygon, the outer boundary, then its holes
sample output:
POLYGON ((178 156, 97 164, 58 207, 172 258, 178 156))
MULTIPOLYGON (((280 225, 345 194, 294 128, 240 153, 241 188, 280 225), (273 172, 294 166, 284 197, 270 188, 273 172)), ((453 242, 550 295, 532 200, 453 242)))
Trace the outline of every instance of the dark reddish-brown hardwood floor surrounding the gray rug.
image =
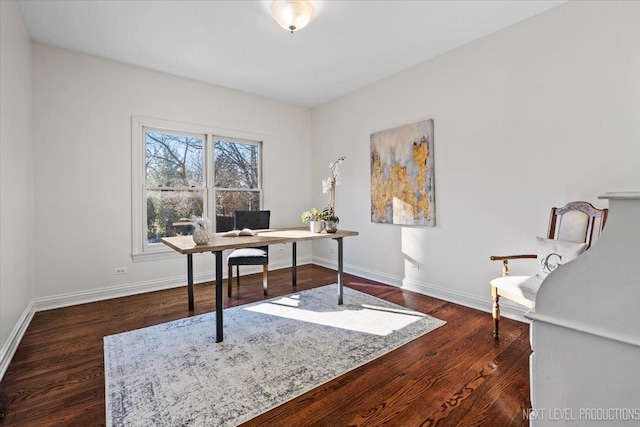
MULTIPOLYGON (((345 276, 349 287, 447 324, 245 425, 528 425, 527 325, 503 319, 495 341, 490 314, 345 276)), ((335 281, 335 271, 298 268, 298 290, 335 281)), ((269 297, 290 292, 289 269, 269 273, 269 297)), ((240 296, 234 291, 224 304, 264 298, 260 275, 251 275, 242 278, 240 296)), ((36 313, 0 382, 0 424, 104 425, 103 336, 212 311, 214 300, 214 286, 202 284, 193 313, 184 287, 36 313)))

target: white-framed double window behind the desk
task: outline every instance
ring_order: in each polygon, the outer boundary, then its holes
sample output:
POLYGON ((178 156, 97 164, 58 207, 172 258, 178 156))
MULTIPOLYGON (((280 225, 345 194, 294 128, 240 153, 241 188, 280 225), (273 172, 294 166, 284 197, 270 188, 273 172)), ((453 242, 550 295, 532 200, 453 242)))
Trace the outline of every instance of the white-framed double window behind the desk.
POLYGON ((134 117, 134 261, 173 254, 160 239, 191 234, 192 215, 209 218, 221 232, 233 228, 236 210, 261 209, 261 141, 255 134, 134 117))

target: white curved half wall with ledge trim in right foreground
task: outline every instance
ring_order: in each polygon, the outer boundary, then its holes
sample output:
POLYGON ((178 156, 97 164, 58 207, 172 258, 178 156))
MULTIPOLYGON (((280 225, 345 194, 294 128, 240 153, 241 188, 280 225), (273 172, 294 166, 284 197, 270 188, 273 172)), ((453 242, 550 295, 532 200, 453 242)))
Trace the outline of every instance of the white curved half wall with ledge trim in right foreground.
POLYGON ((602 236, 547 277, 527 314, 531 426, 640 426, 640 192, 600 198, 602 236))

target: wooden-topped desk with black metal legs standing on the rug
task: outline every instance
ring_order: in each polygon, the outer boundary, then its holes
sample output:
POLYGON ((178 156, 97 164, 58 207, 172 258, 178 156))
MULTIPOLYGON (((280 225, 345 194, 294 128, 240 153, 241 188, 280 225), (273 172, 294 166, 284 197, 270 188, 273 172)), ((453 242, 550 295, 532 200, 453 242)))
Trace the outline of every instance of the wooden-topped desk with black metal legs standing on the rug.
POLYGON ((226 249, 251 248, 254 246, 291 243, 293 262, 291 265, 291 279, 296 286, 297 255, 296 244, 305 240, 333 239, 338 242, 338 304, 342 304, 342 238, 357 236, 357 231, 338 230, 336 233, 312 233, 308 227, 278 228, 257 230, 255 236, 222 237, 224 233, 212 234, 209 243, 196 245, 191 236, 163 237, 162 243, 171 249, 187 255, 187 295, 189 310, 193 310, 193 254, 213 252, 216 257, 216 342, 223 340, 222 325, 222 251, 226 249))

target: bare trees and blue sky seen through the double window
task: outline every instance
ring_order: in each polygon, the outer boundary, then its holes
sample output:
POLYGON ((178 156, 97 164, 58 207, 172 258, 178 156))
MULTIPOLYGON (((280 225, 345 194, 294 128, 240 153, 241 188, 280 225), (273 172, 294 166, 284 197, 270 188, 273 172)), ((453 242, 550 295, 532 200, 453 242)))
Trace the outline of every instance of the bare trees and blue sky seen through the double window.
POLYGON ((192 215, 215 217, 222 232, 233 228, 236 210, 260 209, 259 142, 145 129, 144 143, 147 244, 191 234, 192 215))

